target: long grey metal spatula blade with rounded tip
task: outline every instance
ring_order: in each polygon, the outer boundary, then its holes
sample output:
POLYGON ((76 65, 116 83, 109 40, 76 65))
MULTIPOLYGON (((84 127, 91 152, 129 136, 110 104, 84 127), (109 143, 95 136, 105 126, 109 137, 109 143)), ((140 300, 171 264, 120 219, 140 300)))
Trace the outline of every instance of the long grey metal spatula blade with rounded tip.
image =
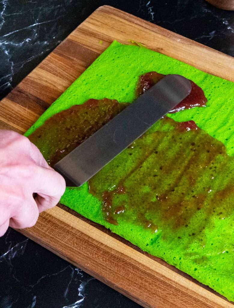
POLYGON ((67 186, 81 186, 190 92, 188 79, 180 75, 165 76, 54 168, 65 177, 67 186))

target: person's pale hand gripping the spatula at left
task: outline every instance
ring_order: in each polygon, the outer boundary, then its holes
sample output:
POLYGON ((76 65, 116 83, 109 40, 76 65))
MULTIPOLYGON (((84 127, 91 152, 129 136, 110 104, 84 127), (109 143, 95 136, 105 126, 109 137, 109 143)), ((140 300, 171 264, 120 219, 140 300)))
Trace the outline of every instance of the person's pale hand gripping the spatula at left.
POLYGON ((39 213, 56 205, 64 191, 64 178, 28 138, 0 130, 0 236, 8 226, 33 226, 39 213))

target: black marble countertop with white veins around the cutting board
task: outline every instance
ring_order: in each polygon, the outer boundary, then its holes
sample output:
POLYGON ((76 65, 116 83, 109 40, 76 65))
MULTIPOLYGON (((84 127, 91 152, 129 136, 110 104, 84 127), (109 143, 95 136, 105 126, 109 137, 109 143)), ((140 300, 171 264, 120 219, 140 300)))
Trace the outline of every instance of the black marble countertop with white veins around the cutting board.
MULTIPOLYGON (((204 0, 1 0, 0 97, 104 4, 234 55, 234 12, 204 0)), ((0 308, 33 307, 140 306, 9 228, 0 238, 0 308)))

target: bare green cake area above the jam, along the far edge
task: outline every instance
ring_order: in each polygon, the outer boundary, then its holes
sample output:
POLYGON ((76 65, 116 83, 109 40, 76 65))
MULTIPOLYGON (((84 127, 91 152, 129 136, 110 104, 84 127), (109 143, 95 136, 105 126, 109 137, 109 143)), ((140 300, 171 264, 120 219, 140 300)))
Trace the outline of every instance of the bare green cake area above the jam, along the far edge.
POLYGON ((233 83, 206 74, 188 64, 155 51, 121 45, 114 41, 86 71, 43 113, 26 132, 29 136, 51 115, 90 98, 117 99, 131 103, 137 79, 150 71, 180 74, 201 87, 208 99, 207 108, 194 108, 171 115, 176 121, 194 120, 209 135, 220 140, 229 155, 234 154, 234 87, 233 83))

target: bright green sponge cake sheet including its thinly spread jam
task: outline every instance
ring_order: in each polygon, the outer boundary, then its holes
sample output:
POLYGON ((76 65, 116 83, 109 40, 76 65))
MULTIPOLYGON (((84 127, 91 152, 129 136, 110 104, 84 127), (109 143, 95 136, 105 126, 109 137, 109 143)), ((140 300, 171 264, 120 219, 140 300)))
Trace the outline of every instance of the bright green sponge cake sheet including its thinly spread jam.
POLYGON ((87 128, 91 135, 131 103, 139 77, 152 71, 192 80, 207 107, 168 114, 89 183, 67 188, 61 203, 234 300, 233 83, 113 42, 26 136, 53 165, 56 142, 66 146, 61 123, 69 146, 77 128, 78 145, 87 128))

